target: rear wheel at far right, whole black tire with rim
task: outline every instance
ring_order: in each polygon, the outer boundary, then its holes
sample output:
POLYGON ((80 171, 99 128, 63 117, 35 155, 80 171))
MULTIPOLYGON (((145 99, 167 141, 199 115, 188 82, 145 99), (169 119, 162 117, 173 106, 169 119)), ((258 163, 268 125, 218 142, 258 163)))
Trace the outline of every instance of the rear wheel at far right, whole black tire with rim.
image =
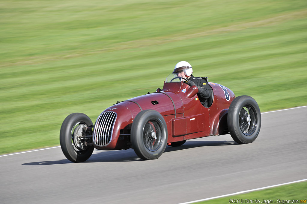
POLYGON ((236 97, 229 106, 227 124, 236 143, 254 142, 261 127, 261 113, 255 99, 250 96, 236 97))

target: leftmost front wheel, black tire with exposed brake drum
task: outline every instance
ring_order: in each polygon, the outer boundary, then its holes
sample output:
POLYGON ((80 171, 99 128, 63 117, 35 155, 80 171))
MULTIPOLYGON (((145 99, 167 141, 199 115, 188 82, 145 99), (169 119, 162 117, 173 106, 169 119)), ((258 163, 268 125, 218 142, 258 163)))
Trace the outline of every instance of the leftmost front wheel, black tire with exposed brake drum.
POLYGON ((93 125, 91 119, 83 113, 72 113, 65 118, 60 130, 60 144, 65 157, 72 162, 82 162, 90 158, 94 147, 83 149, 76 143, 76 134, 82 134, 84 126, 93 125), (77 133, 78 132, 78 133, 77 133))

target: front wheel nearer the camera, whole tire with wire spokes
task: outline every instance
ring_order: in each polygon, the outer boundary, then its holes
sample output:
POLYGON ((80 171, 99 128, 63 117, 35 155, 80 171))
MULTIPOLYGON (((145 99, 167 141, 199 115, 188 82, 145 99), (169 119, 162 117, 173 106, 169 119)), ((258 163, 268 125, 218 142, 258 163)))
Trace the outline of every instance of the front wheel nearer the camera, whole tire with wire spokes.
POLYGON ((159 158, 166 142, 167 126, 163 116, 155 110, 138 113, 131 127, 131 143, 138 157, 144 160, 159 158))

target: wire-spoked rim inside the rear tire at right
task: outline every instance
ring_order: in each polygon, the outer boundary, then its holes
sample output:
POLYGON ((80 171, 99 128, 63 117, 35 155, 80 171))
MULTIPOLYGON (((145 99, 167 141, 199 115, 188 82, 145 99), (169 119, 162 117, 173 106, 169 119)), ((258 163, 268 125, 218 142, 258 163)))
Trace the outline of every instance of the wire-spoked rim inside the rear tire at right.
POLYGON ((257 127, 257 113, 252 106, 243 106, 239 113, 239 125, 242 133, 251 136, 257 127))

